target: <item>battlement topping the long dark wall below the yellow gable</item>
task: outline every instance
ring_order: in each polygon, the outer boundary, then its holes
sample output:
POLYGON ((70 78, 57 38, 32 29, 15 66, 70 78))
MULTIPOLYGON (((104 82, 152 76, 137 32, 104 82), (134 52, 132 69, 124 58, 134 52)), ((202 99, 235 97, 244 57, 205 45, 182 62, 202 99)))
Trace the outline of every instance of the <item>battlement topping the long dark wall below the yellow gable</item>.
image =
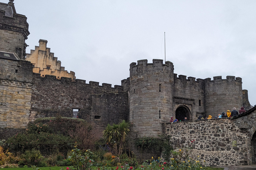
POLYGON ((102 86, 99 85, 99 82, 96 81, 89 81, 89 84, 86 83, 86 80, 81 80, 81 79, 75 79, 73 80, 70 77, 61 77, 57 78, 55 75, 44 75, 41 76, 40 73, 33 73, 33 77, 41 80, 50 80, 50 81, 61 81, 61 82, 67 82, 67 83, 76 83, 80 85, 86 85, 86 86, 95 86, 95 87, 102 87, 102 88, 107 88, 107 89, 116 89, 116 90, 123 90, 123 86, 120 85, 114 85, 114 87, 111 87, 112 84, 108 83, 102 83, 102 86))

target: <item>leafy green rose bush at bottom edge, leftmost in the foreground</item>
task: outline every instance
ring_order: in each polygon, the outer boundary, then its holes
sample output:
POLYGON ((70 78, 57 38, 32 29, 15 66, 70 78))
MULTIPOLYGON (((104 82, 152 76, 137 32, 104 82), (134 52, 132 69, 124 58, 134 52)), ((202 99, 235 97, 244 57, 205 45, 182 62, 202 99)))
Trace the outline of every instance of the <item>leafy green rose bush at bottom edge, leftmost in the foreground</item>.
POLYGON ((90 150, 81 151, 80 149, 72 149, 71 155, 68 157, 75 170, 90 170, 93 160, 90 150))

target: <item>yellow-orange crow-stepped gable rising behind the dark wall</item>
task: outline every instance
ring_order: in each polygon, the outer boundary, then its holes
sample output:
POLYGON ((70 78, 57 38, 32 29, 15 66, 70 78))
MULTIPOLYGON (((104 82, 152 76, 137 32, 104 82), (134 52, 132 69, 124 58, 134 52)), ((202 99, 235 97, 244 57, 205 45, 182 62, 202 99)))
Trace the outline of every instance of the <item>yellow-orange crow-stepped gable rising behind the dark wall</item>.
POLYGON ((39 40, 39 46, 35 46, 35 50, 30 50, 26 60, 33 64, 33 72, 40 73, 42 77, 45 75, 55 75, 58 79, 61 77, 70 77, 75 79, 75 72, 68 72, 65 67, 61 66, 61 61, 54 57, 54 53, 47 48, 47 40, 39 40))

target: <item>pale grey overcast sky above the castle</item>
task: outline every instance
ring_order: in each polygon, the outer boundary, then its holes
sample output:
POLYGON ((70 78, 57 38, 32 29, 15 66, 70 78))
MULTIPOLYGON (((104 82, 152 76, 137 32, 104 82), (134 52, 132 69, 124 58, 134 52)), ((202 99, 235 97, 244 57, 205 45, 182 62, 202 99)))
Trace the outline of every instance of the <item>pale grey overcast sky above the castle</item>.
MULTIPOLYGON (((8 0, 1 2, 8 3, 8 0)), ((77 79, 121 85, 137 60, 164 60, 174 73, 241 77, 256 104, 255 0, 15 0, 29 23, 27 53, 47 40, 77 79)))

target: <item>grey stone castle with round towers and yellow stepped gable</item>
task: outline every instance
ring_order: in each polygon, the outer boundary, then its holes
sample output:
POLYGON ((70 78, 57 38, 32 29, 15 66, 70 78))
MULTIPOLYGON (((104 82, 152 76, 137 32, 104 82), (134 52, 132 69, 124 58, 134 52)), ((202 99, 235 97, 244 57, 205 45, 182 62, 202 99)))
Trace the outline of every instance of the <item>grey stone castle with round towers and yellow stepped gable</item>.
POLYGON ((102 130, 107 124, 129 121, 133 123, 132 137, 138 138, 172 132, 170 126, 176 124, 168 125, 171 117, 187 117, 193 124, 199 116, 214 116, 233 107, 251 109, 242 78, 177 76, 173 63, 163 64, 160 59, 131 63, 130 77, 121 86, 86 83, 61 66, 46 40, 39 40, 39 46, 26 54, 28 35, 26 17, 16 13, 13 0, 0 3, 0 138, 23 130, 37 118, 73 117, 74 110, 80 119, 94 122, 102 130))

